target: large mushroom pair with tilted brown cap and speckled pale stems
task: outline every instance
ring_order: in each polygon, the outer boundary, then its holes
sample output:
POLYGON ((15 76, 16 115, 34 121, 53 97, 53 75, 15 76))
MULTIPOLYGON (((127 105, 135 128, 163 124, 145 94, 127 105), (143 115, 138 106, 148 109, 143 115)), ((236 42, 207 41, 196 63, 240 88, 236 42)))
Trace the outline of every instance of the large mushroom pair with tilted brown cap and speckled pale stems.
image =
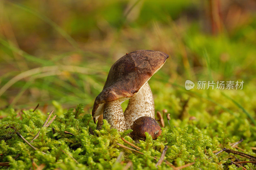
POLYGON ((92 116, 97 129, 101 129, 102 118, 111 128, 119 131, 131 128, 141 116, 155 118, 155 107, 148 80, 165 63, 169 55, 153 50, 137 50, 127 53, 109 70, 102 92, 96 97, 92 116), (121 103, 129 99, 123 112, 121 103), (102 115, 103 116, 100 116, 102 115))

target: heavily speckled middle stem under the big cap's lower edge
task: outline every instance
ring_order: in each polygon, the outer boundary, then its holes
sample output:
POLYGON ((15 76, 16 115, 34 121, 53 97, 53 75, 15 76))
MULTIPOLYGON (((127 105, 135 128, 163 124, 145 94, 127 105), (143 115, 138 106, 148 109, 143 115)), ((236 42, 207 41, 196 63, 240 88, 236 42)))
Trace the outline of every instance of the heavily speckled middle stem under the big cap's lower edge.
POLYGON ((108 123, 111 125, 110 128, 115 128, 118 131, 126 130, 124 112, 118 100, 111 101, 105 104, 103 119, 106 119, 108 121, 108 123))

